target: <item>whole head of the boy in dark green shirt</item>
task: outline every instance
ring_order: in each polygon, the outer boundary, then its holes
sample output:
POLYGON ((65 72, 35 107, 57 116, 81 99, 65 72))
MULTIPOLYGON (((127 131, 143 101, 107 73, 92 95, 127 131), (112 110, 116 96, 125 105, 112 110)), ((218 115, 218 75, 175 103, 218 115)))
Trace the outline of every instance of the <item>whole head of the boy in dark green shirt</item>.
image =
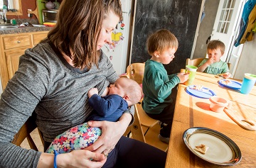
POLYGON ((174 59, 178 40, 169 30, 161 29, 149 36, 146 46, 151 60, 167 65, 174 59))

